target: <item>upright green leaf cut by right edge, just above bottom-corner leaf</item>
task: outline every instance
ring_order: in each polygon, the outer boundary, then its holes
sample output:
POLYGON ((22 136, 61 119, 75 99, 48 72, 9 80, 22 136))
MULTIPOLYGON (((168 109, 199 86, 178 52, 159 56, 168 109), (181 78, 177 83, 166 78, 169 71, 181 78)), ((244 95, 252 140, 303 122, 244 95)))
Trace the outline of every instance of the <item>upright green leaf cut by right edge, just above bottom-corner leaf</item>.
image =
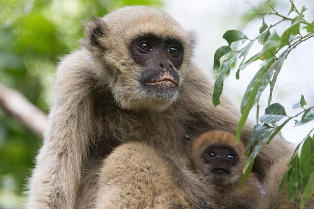
POLYGON ((305 186, 309 176, 314 172, 314 139, 310 136, 305 139, 302 145, 300 162, 302 182, 305 186))

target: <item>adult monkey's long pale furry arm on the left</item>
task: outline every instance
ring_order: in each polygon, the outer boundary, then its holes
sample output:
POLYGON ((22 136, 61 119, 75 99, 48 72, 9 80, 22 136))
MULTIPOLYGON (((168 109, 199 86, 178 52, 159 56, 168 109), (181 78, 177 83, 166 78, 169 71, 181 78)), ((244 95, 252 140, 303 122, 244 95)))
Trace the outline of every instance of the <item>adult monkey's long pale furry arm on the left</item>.
MULTIPOLYGON (((91 89, 81 75, 88 63, 81 51, 67 56, 56 73, 55 94, 44 144, 29 182, 29 209, 74 207, 82 165, 93 139, 91 89), (73 82, 76 81, 76 82, 73 82)), ((95 119, 94 119, 95 120, 95 119)))

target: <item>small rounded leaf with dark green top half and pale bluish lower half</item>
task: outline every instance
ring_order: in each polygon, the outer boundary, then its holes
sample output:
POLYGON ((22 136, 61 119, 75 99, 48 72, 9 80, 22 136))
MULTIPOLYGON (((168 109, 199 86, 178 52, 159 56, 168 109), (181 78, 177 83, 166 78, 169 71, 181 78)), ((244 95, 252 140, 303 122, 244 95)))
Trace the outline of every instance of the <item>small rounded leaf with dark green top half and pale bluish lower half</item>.
POLYGON ((265 115, 260 120, 262 123, 275 123, 286 116, 285 108, 279 103, 274 103, 265 109, 265 115))

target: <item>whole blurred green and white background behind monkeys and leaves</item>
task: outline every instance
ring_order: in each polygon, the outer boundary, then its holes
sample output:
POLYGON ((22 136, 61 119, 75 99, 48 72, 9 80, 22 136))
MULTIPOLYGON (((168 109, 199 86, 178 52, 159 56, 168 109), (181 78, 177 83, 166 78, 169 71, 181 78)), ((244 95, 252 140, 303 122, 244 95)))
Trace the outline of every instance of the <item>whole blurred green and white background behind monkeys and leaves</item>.
MULTIPOLYGON (((241 30, 251 39, 258 35, 262 21, 256 18, 256 12, 263 8, 262 3, 263 0, 0 0, 0 84, 22 93, 47 115, 52 104, 55 66, 62 56, 79 47, 83 20, 134 4, 163 9, 183 27, 194 29, 198 36, 194 61, 210 74, 215 50, 226 45, 222 39, 226 30, 241 30)), ((288 0, 273 3, 278 11, 288 13, 288 0)), ((314 1, 295 3, 298 8, 306 5, 306 18, 312 22, 314 1)), ((266 23, 276 20, 269 17, 266 23)), ((285 23, 281 24, 277 32, 281 34, 285 27, 285 23)), ((251 54, 259 49, 258 44, 253 46, 251 54)), ((226 80, 224 93, 237 108, 258 68, 259 63, 254 63, 241 71, 238 81, 233 70, 226 80)), ((283 104, 292 115, 295 110, 291 106, 299 101, 301 93, 309 105, 314 104, 313 90, 314 40, 309 40, 290 53, 275 86, 273 102, 283 104)), ((262 95, 261 109, 267 104, 266 94, 262 95)), ((250 118, 255 120, 254 110, 250 118)), ((313 123, 298 128, 290 123, 283 135, 296 143, 310 127, 313 123)), ((25 202, 26 179, 41 143, 40 135, 0 108, 0 209, 17 208, 25 202)))

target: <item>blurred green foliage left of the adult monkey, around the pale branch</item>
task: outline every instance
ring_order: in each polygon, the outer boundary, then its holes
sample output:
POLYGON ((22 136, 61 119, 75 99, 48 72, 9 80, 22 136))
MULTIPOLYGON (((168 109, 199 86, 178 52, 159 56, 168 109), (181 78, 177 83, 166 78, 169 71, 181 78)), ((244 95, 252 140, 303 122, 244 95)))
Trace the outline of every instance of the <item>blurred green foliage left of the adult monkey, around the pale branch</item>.
MULTIPOLYGON (((48 114, 55 66, 79 46, 83 20, 134 4, 162 7, 159 0, 0 0, 0 83, 48 114)), ((0 209, 25 202, 41 143, 0 109, 0 209)))

